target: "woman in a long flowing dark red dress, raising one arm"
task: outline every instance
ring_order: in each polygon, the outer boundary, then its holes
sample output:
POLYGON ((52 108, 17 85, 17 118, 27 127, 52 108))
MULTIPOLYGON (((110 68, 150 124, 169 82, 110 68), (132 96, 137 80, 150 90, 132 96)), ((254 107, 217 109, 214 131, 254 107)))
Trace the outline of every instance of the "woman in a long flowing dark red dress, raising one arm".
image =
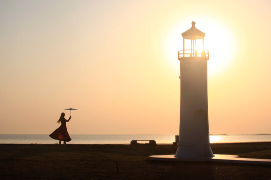
POLYGON ((61 144, 61 140, 64 141, 63 142, 64 144, 66 144, 66 142, 71 140, 71 137, 67 131, 67 126, 66 126, 66 122, 70 121, 71 116, 68 120, 66 120, 64 116, 65 116, 65 113, 62 112, 59 120, 57 121, 57 123, 61 122, 61 125, 49 135, 53 139, 59 140, 59 144, 61 144))

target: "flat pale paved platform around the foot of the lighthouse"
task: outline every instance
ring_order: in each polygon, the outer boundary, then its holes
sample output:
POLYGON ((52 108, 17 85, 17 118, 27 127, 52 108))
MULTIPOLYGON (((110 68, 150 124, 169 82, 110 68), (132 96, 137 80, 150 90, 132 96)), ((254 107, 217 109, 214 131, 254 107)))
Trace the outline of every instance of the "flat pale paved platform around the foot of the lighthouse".
POLYGON ((214 157, 195 157, 195 158, 182 158, 182 157, 175 157, 174 155, 175 154, 151 155, 150 159, 164 160, 164 161, 212 161, 212 162, 271 165, 271 159, 242 158, 242 157, 238 157, 238 155, 229 155, 229 154, 214 154, 215 155, 214 157))

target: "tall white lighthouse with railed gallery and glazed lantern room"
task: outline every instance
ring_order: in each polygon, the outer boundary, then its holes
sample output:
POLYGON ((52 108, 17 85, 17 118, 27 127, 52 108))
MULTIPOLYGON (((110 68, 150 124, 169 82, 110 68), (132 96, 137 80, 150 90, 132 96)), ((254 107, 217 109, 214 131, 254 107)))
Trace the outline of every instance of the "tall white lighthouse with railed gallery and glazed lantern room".
POLYGON ((207 60, 209 51, 204 49, 205 33, 195 27, 182 33, 183 50, 180 60, 180 132, 175 157, 213 157, 209 140, 207 60), (202 46, 197 51, 197 41, 202 46), (190 42, 190 43, 189 43, 190 42), (186 45, 186 43, 189 43, 186 45), (186 46, 189 47, 186 47, 186 46), (191 46, 190 46, 191 45, 191 46))

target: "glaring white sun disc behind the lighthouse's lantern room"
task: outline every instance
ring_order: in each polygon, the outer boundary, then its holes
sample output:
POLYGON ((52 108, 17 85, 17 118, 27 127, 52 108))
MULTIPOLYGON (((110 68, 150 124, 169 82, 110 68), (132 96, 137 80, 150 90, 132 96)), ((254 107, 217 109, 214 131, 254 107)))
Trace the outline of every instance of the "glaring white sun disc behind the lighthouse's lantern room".
MULTIPOLYGON (((204 49, 209 50, 208 60, 208 74, 217 74, 225 70, 232 62, 236 42, 234 34, 231 29, 220 21, 212 18, 197 18, 189 17, 178 22, 172 27, 165 39, 165 53, 172 65, 178 64, 177 52, 183 49, 183 38, 181 33, 188 30, 191 27, 191 22, 196 22, 196 28, 203 31, 206 35, 204 37, 204 49), (177 61, 177 62, 176 62, 177 61)), ((186 42, 185 42, 186 43, 186 42)), ((185 45, 186 49, 189 47, 185 45)), ((201 52, 203 49, 202 40, 197 40, 196 49, 201 52)), ((177 68, 179 66, 177 65, 177 68)))

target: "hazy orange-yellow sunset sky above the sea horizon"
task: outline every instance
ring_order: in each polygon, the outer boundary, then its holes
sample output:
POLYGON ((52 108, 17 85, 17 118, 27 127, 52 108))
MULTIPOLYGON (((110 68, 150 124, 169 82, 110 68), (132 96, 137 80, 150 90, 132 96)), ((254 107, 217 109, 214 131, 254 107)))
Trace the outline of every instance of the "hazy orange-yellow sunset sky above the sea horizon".
POLYGON ((181 33, 206 33, 210 133, 271 133, 271 0, 0 0, 0 133, 179 133, 181 33), (66 118, 69 111, 65 110, 66 118))

